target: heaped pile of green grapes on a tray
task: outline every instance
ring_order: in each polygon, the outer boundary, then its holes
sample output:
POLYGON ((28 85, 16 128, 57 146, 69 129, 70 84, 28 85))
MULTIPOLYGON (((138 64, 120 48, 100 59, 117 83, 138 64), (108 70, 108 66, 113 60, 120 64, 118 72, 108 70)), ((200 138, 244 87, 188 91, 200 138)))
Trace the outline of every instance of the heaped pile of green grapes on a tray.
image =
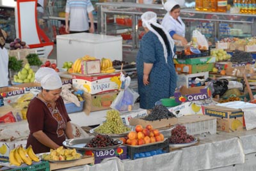
POLYGON ((124 125, 118 110, 108 110, 106 121, 95 129, 97 133, 120 134, 131 131, 131 128, 124 125))

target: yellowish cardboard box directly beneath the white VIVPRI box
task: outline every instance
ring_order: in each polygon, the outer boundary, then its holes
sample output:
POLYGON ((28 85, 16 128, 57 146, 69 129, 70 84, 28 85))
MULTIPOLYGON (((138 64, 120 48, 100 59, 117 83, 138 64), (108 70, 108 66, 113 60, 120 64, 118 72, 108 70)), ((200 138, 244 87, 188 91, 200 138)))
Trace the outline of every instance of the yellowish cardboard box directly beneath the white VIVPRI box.
POLYGON ((84 108, 83 111, 88 115, 90 112, 98 110, 107 110, 110 108, 112 101, 115 100, 119 91, 109 93, 88 94, 84 93, 84 108))

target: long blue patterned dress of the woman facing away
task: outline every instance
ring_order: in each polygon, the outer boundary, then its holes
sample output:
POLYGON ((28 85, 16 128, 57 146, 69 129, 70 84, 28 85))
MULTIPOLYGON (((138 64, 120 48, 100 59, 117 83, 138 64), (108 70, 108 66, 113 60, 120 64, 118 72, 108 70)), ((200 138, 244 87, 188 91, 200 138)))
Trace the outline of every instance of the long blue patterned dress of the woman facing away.
POLYGON ((166 63, 163 45, 152 31, 144 34, 140 50, 136 57, 138 73, 138 89, 140 94, 140 108, 151 109, 161 98, 170 98, 177 84, 177 75, 172 59, 172 51, 166 63), (143 63, 152 63, 149 84, 143 84, 143 63))

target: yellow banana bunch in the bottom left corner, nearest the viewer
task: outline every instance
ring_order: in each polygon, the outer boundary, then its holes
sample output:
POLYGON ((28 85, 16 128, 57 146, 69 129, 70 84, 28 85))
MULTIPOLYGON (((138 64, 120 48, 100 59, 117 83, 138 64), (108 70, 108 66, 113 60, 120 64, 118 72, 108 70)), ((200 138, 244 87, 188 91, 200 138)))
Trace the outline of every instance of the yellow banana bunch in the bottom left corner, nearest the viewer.
POLYGON ((24 149, 22 145, 19 145, 19 147, 10 151, 9 161, 11 165, 16 165, 17 167, 19 167, 22 163, 32 165, 33 161, 38 162, 40 161, 40 158, 36 156, 31 145, 29 145, 27 149, 24 149))

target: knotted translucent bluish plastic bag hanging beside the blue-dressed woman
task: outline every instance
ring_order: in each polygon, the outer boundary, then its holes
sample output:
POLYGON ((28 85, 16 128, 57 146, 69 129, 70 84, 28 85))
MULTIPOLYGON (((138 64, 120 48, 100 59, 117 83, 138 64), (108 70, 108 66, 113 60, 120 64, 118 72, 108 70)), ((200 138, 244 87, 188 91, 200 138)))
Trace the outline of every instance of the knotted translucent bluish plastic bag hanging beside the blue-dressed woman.
POLYGON ((131 77, 125 78, 124 74, 121 73, 120 80, 122 80, 124 89, 121 89, 110 107, 118 111, 128 111, 129 106, 134 104, 139 94, 128 87, 131 83, 131 77))

